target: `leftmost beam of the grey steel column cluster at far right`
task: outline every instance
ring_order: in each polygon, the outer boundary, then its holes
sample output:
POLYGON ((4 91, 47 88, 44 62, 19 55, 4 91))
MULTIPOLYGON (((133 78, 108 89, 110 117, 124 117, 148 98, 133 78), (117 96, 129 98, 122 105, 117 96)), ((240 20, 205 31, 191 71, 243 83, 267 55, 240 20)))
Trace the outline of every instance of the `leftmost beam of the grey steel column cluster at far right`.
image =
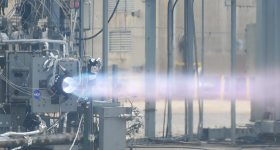
POLYGON ((256 18, 256 80, 255 87, 252 89, 255 93, 251 100, 252 118, 251 121, 262 120, 265 112, 266 98, 266 29, 267 29, 267 0, 257 0, 257 18, 256 18))

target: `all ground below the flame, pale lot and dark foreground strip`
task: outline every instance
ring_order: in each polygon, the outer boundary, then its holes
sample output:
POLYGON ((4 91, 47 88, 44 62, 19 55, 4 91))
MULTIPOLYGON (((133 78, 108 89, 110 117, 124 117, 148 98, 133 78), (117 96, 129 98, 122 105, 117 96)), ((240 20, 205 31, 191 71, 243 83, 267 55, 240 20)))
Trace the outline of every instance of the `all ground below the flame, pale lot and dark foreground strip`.
MULTIPOLYGON (((138 107, 142 112, 145 109, 144 101, 134 101, 133 105, 138 107)), ((156 103, 156 136, 162 137, 163 118, 164 118, 164 101, 156 103)), ((129 104, 125 104, 129 106, 129 104)), ((236 101, 236 124, 244 126, 250 123, 251 105, 248 100, 236 101)), ((184 101, 174 100, 172 102, 172 134, 174 137, 184 135, 184 101)), ((230 127, 230 101, 226 100, 206 100, 204 102, 204 128, 219 128, 230 127)), ((194 101, 194 133, 197 131, 198 125, 198 103, 194 101)), ((145 137, 144 129, 140 131, 135 138, 145 137)), ((280 150, 280 145, 274 144, 244 144, 237 143, 236 146, 231 146, 230 141, 202 141, 201 145, 197 141, 193 143, 165 143, 165 144, 149 144, 135 145, 133 150, 280 150)), ((127 148, 127 150, 130 150, 127 148)))

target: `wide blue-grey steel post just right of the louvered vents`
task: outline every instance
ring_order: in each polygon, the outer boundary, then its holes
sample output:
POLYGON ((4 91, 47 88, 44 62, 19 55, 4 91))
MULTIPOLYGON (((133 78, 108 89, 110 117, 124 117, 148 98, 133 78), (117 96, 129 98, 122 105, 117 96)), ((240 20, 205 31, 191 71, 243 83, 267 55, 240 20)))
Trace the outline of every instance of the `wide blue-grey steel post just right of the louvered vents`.
POLYGON ((145 135, 155 137, 156 0, 145 3, 145 135))

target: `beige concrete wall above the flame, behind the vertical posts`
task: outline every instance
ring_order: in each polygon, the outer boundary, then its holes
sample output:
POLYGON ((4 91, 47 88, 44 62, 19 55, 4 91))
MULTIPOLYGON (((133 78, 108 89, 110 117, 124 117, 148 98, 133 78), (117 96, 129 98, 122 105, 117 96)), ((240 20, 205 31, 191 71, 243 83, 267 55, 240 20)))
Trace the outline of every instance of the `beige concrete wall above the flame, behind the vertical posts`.
MULTIPOLYGON (((103 0, 94 0, 94 33, 102 28, 102 4, 103 0)), ((168 0, 157 0, 157 43, 156 62, 157 73, 167 72, 167 4, 168 0)), ((179 0, 176 5, 174 35, 174 55, 177 62, 182 62, 182 53, 178 48, 178 42, 183 34, 183 9, 184 1, 179 0)), ((127 73, 144 73, 145 65, 145 0, 134 0, 134 10, 140 10, 140 17, 133 17, 130 13, 116 13, 109 24, 109 31, 126 30, 132 33, 131 52, 109 52, 109 66, 118 64, 120 70, 127 73)), ((243 42, 240 50, 239 72, 245 72, 246 25, 256 22, 256 0, 237 0, 237 41, 243 42), (244 67, 242 67, 244 65, 244 67), (243 69, 243 70, 242 70, 243 69)), ((201 0, 194 2, 194 15, 196 23, 196 37, 198 58, 201 51, 201 0)), ((109 18, 109 16, 108 16, 109 18)), ((230 74, 230 0, 205 0, 205 74, 229 75, 230 74)), ((86 33, 91 36, 92 30, 86 33)), ((238 46, 237 46, 238 47, 238 46)), ((86 53, 93 57, 102 57, 102 34, 86 42, 86 53), (93 49, 92 49, 93 44, 93 49)), ((176 70, 181 70, 176 66, 176 70)), ((110 70, 110 68, 109 68, 110 70)))

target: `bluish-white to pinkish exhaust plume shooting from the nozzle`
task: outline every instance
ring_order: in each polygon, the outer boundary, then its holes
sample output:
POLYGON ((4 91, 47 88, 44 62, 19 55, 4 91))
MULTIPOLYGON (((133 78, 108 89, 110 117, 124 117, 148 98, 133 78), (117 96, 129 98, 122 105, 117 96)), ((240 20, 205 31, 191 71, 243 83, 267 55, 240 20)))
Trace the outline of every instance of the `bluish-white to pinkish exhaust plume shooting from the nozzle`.
MULTIPOLYGON (((167 84, 166 74, 156 74, 151 76, 154 78, 149 81, 145 81, 144 75, 131 75, 131 76, 119 76, 117 91, 119 95, 128 95, 130 97, 137 97, 142 99, 165 99, 169 92, 171 92, 172 99, 185 99, 190 97, 197 99, 197 95, 202 94, 204 99, 228 99, 230 98, 230 78, 229 77, 205 77, 204 84, 197 84, 197 78, 191 79, 191 82, 187 82, 183 74, 175 74, 171 78, 170 85, 167 84), (145 83, 147 85, 145 86, 145 83), (168 86, 167 86, 168 85, 168 86), (154 90, 155 89, 155 90, 154 90), (188 93, 188 91, 191 91, 188 93)), ((79 76, 72 78, 77 83, 79 76)), ((100 99, 112 99, 112 77, 109 76, 107 84, 101 75, 96 76, 95 82, 87 80, 86 74, 82 75, 82 84, 78 85, 73 83, 73 80, 68 81, 68 87, 65 87, 68 91, 73 90, 72 94, 77 96, 86 96, 100 99), (75 87, 74 87, 75 86, 75 87)), ((251 83, 248 79, 237 79, 237 98, 247 99, 248 92, 250 92, 251 83)), ((250 93, 249 93, 250 94, 250 93)))

